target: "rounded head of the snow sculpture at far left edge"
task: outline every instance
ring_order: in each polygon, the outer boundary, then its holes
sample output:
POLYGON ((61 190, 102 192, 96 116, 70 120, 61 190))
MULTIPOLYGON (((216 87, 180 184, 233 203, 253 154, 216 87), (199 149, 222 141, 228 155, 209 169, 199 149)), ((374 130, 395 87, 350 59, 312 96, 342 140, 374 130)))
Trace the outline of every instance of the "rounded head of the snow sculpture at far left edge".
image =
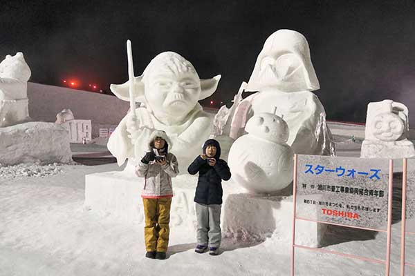
POLYGON ((14 56, 7 55, 6 59, 0 62, 0 78, 27 82, 30 75, 30 68, 24 60, 22 52, 17 52, 14 56))

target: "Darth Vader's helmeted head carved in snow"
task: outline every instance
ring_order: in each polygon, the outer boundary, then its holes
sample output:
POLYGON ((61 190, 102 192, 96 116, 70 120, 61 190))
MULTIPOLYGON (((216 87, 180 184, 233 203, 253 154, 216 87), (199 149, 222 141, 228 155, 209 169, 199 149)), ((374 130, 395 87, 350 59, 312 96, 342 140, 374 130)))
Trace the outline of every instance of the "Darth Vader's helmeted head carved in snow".
POLYGON ((318 90, 320 84, 306 38, 294 30, 277 30, 266 39, 246 90, 282 92, 318 90))

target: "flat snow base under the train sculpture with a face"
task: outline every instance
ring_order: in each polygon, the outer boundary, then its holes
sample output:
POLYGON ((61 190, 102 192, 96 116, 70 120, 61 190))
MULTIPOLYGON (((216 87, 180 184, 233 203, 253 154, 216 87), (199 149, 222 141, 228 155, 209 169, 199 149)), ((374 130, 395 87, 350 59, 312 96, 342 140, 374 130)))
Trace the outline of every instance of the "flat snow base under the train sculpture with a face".
POLYGON ((363 158, 409 158, 415 156, 414 144, 405 139, 401 141, 369 141, 362 143, 360 157, 363 158))

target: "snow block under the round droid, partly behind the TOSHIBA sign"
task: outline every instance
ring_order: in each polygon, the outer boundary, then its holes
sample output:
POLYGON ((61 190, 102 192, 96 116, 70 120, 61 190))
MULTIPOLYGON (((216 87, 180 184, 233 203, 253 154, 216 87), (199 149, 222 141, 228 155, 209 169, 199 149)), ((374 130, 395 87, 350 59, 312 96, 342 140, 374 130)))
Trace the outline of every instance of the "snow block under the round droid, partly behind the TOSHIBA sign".
MULTIPOLYGON (((250 194, 229 195, 223 207, 223 233, 235 239, 257 239, 277 236, 286 244, 291 243, 293 197, 257 196, 250 194)), ((310 213, 317 213, 311 207, 310 213)), ((296 244, 317 247, 326 231, 326 224, 313 221, 296 221, 296 244)))

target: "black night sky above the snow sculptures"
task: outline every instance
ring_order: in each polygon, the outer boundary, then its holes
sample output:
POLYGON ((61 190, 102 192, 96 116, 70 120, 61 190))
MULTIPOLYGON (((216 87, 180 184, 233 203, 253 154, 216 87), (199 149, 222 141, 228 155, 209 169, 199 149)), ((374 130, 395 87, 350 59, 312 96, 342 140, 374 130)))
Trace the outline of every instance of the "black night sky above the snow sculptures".
POLYGON ((131 39, 136 75, 172 50, 201 78, 221 74, 210 99, 226 102, 266 38, 286 28, 308 39, 328 119, 364 122, 367 103, 382 99, 415 112, 415 1, 337 2, 0 1, 0 57, 24 52, 33 82, 109 90, 127 81, 131 39))

